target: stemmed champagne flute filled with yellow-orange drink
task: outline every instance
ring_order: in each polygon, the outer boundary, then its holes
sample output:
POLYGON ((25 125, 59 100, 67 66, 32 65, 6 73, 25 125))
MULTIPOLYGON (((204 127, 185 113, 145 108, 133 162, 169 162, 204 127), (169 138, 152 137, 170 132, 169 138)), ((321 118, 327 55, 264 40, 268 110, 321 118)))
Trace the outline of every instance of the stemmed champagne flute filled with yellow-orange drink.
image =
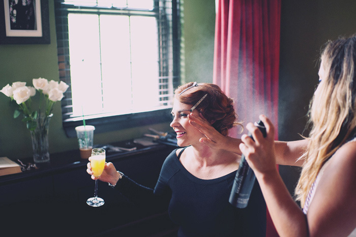
MULTIPOLYGON (((105 150, 102 148, 95 148, 92 150, 91 165, 93 174, 95 177, 100 177, 103 173, 105 166, 105 150)), ((98 197, 98 180, 95 180, 94 197, 86 200, 86 203, 90 206, 101 206, 104 204, 104 200, 98 197)))

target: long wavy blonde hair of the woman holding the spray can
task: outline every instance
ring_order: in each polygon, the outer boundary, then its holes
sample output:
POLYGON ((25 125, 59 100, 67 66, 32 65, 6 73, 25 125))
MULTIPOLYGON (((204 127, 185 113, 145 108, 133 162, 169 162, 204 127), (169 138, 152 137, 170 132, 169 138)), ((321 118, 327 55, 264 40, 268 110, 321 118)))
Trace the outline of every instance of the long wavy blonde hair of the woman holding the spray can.
POLYGON ((320 58, 325 74, 309 106, 309 144, 295 188, 302 206, 321 167, 356 127, 356 36, 327 42, 320 58))

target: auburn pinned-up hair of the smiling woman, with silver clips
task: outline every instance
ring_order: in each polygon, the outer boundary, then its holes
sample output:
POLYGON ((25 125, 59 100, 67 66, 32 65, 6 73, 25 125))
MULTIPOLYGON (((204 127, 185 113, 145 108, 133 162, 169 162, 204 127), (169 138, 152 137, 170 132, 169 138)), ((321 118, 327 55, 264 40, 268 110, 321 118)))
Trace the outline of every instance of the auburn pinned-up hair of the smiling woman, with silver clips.
POLYGON ((237 122, 238 114, 233 107, 233 99, 227 97, 218 85, 212 83, 193 85, 194 82, 188 82, 176 88, 174 98, 183 104, 193 106, 207 94, 195 110, 198 110, 218 132, 227 136, 230 128, 242 127, 242 123, 237 122))

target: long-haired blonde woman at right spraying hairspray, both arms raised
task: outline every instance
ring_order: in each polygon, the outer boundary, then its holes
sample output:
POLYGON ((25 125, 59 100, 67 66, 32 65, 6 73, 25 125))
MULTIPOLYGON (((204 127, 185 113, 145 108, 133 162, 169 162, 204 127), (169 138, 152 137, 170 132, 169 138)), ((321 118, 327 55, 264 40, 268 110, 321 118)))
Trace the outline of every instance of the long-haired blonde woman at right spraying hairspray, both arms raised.
POLYGON ((356 236, 356 35, 327 42, 320 59, 311 132, 304 140, 274 141, 274 126, 264 115, 266 138, 252 123, 246 126, 254 141, 221 136, 203 117, 188 116, 205 134, 203 144, 246 156, 280 236, 356 236), (276 163, 303 167, 295 189, 302 208, 276 163))

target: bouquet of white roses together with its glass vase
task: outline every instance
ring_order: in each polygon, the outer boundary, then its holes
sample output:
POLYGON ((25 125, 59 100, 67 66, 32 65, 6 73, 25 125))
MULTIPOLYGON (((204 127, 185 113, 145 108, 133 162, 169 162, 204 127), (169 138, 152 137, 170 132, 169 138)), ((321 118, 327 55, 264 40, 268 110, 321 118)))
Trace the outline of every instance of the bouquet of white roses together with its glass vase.
POLYGON ((34 86, 26 86, 26 82, 7 84, 0 91, 11 98, 11 103, 17 104, 14 118, 23 114, 23 122, 31 133, 32 148, 35 163, 49 161, 48 128, 55 102, 62 100, 68 85, 61 81, 48 81, 45 78, 33 79, 34 86), (35 97, 39 92, 39 98, 35 97), (16 101, 16 103, 14 102, 16 101))

